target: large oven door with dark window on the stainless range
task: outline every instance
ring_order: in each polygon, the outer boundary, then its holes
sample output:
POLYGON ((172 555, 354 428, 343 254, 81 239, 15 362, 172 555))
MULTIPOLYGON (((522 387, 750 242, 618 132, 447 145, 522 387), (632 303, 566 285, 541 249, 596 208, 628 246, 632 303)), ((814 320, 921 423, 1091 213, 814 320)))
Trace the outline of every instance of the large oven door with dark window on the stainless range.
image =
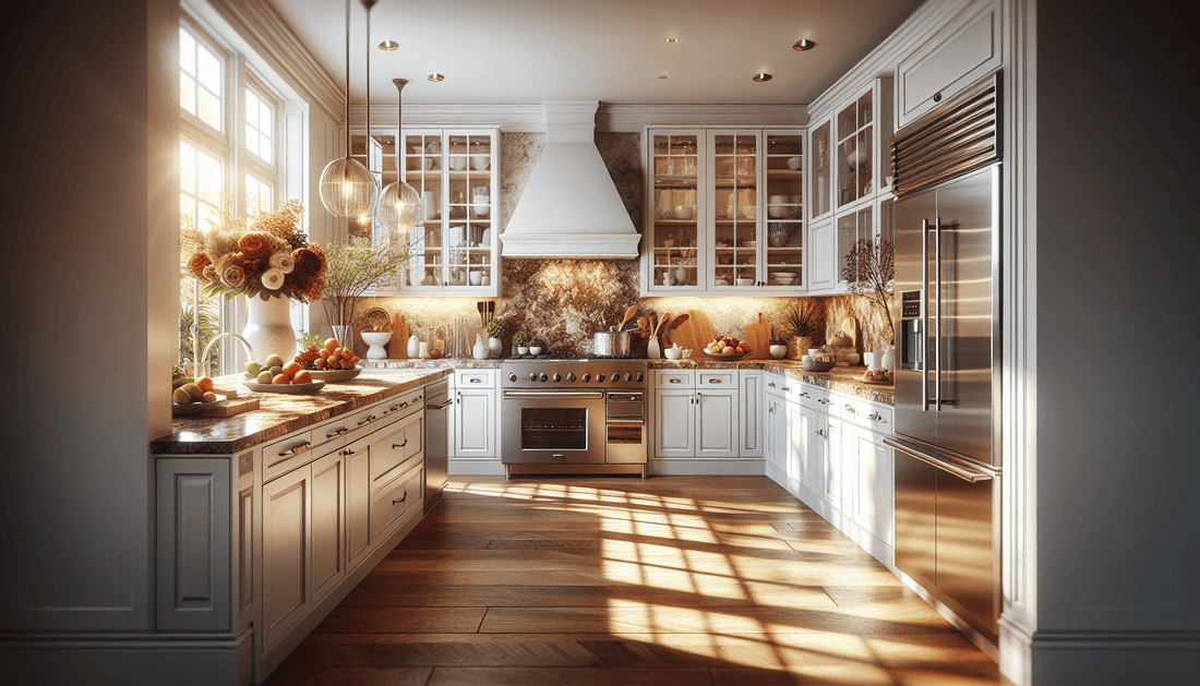
POLYGON ((604 464, 604 391, 505 390, 500 462, 604 464))

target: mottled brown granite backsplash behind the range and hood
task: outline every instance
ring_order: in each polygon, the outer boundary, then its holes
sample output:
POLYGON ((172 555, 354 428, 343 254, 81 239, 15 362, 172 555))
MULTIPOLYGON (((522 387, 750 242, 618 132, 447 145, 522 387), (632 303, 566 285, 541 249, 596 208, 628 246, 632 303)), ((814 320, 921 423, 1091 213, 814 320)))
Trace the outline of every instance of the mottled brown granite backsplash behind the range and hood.
MULTIPOLYGON (((508 225, 521 199, 541 149, 542 133, 500 134, 500 221, 508 225)), ((642 150, 636 133, 598 133, 596 148, 612 175, 617 191, 629 211, 634 227, 642 225, 642 150)), ((503 229, 502 229, 503 230, 503 229)), ((607 331, 620 323, 630 306, 640 314, 654 311, 682 313, 702 309, 714 333, 745 336, 746 325, 758 313, 772 324, 776 336, 785 330, 787 311, 794 297, 640 297, 637 259, 510 259, 502 263, 503 290, 496 299, 494 319, 510 331, 526 331, 544 341, 552 355, 576 356, 590 351, 592 333, 607 331)), ((889 331, 886 318, 858 296, 816 297, 826 312, 826 339, 836 333, 841 321, 854 317, 860 323, 863 342, 859 350, 880 350, 889 331)), ((364 315, 374 307, 404 315, 409 327, 422 339, 428 327, 440 327, 445 341, 451 338, 457 317, 468 317, 479 326, 478 297, 365 297, 356 307, 355 331, 362 331, 364 315)), ((358 338, 358 337, 355 337, 358 338)), ((485 336, 486 338, 486 336, 485 336)), ((474 339, 474 335, 470 336, 474 339)), ((647 339, 634 336, 634 354, 644 354, 647 339)), ((355 342, 365 355, 366 347, 355 342)), ((848 351, 848 350, 847 350, 848 351)))

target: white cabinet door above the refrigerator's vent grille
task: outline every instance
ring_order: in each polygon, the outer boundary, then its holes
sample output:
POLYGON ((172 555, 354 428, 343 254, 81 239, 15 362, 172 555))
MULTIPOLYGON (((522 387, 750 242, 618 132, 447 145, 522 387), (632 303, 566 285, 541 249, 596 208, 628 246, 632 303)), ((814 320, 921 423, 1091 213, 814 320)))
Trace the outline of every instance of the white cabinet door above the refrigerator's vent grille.
POLYGON ((898 128, 1000 68, 1000 2, 971 2, 900 61, 895 70, 898 128))

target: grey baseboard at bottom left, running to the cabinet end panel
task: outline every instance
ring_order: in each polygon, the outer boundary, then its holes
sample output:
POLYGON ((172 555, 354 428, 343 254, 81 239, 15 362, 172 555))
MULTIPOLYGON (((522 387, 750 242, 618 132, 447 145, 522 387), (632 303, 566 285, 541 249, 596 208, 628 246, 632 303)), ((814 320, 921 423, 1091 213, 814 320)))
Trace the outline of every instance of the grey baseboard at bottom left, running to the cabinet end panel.
POLYGON ((0 684, 238 684, 238 643, 232 633, 4 638, 0 639, 0 684))

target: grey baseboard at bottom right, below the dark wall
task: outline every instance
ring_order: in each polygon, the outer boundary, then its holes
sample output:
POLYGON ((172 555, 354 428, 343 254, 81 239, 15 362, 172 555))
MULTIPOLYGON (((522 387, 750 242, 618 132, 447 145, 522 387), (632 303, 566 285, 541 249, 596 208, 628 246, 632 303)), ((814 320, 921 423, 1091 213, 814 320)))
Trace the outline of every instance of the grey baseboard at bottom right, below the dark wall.
POLYGON ((1180 686, 1196 674, 1195 631, 1036 631, 1030 645, 1031 685, 1180 686))

